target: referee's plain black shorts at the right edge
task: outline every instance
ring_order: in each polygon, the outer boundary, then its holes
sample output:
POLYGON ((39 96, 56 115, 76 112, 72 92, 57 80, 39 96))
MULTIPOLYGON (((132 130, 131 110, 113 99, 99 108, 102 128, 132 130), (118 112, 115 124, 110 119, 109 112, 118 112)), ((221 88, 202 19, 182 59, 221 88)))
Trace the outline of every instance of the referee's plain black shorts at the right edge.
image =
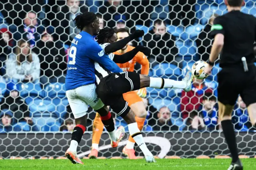
POLYGON ((225 67, 218 73, 218 101, 224 105, 235 105, 238 95, 249 106, 256 103, 256 66, 248 65, 244 72, 241 65, 225 67))

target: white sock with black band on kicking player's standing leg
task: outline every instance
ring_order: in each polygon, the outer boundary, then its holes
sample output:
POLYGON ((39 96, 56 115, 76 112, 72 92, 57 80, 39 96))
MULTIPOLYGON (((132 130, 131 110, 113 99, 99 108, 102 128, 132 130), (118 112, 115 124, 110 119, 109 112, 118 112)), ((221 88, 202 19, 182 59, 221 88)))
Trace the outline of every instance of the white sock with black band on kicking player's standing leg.
MULTIPOLYGON (((128 124, 128 129, 129 129, 130 135, 133 135, 133 134, 136 134, 136 133, 140 132, 140 129, 138 128, 138 124, 136 122, 128 124)), ((144 142, 142 134, 134 136, 133 139, 139 145, 139 147, 142 150, 144 156, 153 156, 152 153, 148 150, 148 148, 147 148, 147 146, 144 142)))

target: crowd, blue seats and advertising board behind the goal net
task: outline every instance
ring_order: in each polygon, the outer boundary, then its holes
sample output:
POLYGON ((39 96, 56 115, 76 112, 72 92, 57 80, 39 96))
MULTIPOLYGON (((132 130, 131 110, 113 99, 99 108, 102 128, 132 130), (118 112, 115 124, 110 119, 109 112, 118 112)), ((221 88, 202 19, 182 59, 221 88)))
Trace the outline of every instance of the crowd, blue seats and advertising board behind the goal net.
MULTIPOLYGON (((256 16, 255 2, 246 0, 242 12, 256 16)), ((149 75, 175 80, 182 79, 195 61, 208 59, 212 20, 227 12, 223 0, 1 0, 0 157, 64 156, 74 127, 64 89, 69 45, 79 33, 72 19, 88 10, 103 19, 103 26, 126 27, 130 32, 144 30, 145 36, 131 45, 152 49, 148 56, 149 75), (28 27, 29 23, 33 26, 28 27), (21 55, 18 47, 26 42, 20 40, 30 43, 21 55)), ((147 89, 144 101, 148 116, 143 132, 154 155, 164 158, 228 154, 217 117, 219 70, 217 63, 212 76, 194 81, 189 93, 147 89), (162 113, 163 107, 168 110, 162 113), (213 109, 207 111, 208 107, 213 109)), ((140 72, 140 65, 136 65, 136 71, 140 72)), ((91 108, 89 112, 88 128, 78 147, 80 157, 90 150, 95 112, 91 108)), ((116 127, 126 126, 119 117, 115 121, 116 127)), ((240 154, 254 156, 256 135, 240 99, 232 121, 240 154)), ((127 139, 126 135, 120 145, 127 139)), ((122 156, 122 147, 109 148, 109 142, 104 133, 99 156, 122 156)), ((142 154, 138 147, 136 154, 142 154)))

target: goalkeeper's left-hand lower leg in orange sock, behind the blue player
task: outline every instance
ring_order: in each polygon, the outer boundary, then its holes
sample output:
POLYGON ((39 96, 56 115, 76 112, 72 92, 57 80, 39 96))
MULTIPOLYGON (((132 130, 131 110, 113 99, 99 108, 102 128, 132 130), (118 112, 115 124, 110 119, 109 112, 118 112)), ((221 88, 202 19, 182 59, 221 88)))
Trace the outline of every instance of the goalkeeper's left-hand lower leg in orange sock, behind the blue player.
POLYGON ((92 147, 91 152, 88 155, 90 159, 96 159, 98 157, 98 146, 103 132, 103 127, 104 125, 100 119, 100 114, 97 112, 92 125, 92 147))

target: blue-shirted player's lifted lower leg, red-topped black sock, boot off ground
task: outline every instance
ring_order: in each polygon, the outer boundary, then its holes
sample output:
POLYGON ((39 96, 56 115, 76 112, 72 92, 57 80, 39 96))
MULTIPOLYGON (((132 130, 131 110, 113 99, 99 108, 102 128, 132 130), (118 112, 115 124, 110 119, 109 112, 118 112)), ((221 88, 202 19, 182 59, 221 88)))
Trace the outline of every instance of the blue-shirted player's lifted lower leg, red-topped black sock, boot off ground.
POLYGON ((124 137, 124 127, 120 126, 117 130, 115 130, 115 124, 111 113, 108 111, 108 113, 105 114, 106 112, 101 111, 101 109, 97 110, 97 112, 100 114, 100 119, 108 131, 111 140, 111 146, 113 148, 117 147, 120 140, 122 140, 124 137))

